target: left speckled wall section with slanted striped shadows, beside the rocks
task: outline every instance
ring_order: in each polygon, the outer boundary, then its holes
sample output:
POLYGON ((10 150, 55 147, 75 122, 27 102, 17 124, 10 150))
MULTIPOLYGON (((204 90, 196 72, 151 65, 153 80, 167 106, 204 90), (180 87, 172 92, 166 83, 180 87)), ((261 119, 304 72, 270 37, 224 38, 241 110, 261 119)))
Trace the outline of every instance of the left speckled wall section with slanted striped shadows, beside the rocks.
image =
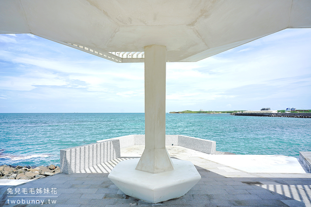
POLYGON ((75 173, 120 156, 118 139, 63 149, 60 150, 61 173, 75 173))

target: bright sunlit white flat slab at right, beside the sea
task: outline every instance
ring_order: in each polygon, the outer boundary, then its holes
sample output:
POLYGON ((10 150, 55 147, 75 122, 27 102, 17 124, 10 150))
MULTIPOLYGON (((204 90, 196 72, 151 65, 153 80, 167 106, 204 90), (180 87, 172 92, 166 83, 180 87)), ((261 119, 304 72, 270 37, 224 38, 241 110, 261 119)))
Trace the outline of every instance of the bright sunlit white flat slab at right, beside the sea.
MULTIPOLYGON (((202 158, 248 173, 306 173, 298 159, 284 155, 203 155, 202 158)), ((230 168, 225 168, 233 172, 230 168)), ((235 171, 234 171, 235 172, 235 171)))

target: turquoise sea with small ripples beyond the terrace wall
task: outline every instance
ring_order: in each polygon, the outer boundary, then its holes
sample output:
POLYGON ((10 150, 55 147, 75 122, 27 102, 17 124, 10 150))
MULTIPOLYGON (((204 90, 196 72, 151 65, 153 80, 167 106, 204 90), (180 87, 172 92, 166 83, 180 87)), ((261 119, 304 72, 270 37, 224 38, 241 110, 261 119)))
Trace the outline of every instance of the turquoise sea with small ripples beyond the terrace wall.
MULTIPOLYGON (((0 164, 59 164, 59 150, 144 134, 143 113, 0 114, 0 164)), ((311 119, 166 114, 166 134, 216 141, 217 151, 299 156, 311 151, 311 119)))

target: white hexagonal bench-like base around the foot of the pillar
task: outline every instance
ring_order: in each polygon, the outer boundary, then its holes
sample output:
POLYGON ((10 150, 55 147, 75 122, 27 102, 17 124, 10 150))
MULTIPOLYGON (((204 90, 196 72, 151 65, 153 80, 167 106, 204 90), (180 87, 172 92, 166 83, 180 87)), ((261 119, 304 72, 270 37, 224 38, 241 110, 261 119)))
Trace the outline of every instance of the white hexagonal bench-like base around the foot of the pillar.
POLYGON ((150 203, 183 196, 201 179, 190 161, 172 159, 174 170, 155 174, 136 170, 138 161, 121 161, 108 178, 126 195, 150 203))

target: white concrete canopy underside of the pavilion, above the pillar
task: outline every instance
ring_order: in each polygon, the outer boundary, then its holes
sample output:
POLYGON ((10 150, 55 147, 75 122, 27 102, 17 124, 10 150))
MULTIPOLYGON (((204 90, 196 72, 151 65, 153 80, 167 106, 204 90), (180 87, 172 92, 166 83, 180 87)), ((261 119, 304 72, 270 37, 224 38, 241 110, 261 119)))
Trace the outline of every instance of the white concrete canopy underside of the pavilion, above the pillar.
POLYGON ((310 0, 10 0, 0 1, 0 33, 107 52, 164 45, 167 61, 193 62, 286 28, 310 28, 310 11, 310 0))

